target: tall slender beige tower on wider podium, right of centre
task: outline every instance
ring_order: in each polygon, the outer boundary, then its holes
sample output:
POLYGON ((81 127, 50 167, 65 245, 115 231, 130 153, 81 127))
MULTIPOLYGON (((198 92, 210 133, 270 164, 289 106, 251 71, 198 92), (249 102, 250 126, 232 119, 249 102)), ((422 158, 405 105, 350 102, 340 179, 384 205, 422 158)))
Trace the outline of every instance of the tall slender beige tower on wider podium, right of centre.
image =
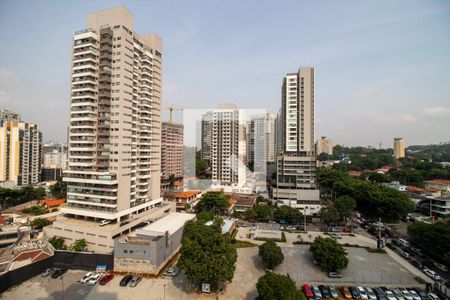
POLYGON ((305 214, 320 210, 314 145, 314 68, 301 67, 283 78, 281 103, 282 153, 277 157, 279 204, 305 214))

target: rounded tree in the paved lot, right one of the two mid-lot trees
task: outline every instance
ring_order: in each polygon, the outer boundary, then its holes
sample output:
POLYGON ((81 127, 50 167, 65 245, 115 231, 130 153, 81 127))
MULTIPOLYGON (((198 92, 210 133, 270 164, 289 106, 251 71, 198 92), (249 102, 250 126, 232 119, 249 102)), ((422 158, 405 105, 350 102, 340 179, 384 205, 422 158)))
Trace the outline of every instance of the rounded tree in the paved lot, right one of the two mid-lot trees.
POLYGON ((340 271, 348 265, 347 252, 331 238, 317 237, 309 247, 309 251, 324 271, 340 271))

